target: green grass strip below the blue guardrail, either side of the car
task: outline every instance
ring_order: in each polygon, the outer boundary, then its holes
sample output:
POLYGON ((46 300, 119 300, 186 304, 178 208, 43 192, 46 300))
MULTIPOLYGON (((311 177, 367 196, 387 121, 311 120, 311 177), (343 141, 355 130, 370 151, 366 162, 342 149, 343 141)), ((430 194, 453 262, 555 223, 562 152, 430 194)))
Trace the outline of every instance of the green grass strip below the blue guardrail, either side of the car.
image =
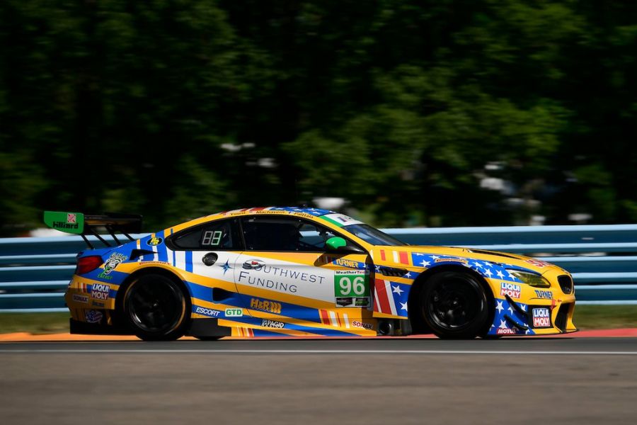
MULTIPOLYGON (((576 305, 579 329, 637 327, 637 305, 576 305)), ((0 334, 29 332, 58 334, 69 331, 69 313, 0 313, 0 334)))

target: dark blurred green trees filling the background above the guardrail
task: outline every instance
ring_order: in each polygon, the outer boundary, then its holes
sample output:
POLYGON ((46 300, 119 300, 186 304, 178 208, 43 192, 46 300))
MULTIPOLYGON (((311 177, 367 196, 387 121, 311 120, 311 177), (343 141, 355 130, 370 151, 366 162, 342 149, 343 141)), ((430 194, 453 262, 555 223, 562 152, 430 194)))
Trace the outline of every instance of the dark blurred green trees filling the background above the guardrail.
POLYGON ((383 226, 637 221, 633 2, 4 0, 0 47, 4 236, 317 197, 383 226))

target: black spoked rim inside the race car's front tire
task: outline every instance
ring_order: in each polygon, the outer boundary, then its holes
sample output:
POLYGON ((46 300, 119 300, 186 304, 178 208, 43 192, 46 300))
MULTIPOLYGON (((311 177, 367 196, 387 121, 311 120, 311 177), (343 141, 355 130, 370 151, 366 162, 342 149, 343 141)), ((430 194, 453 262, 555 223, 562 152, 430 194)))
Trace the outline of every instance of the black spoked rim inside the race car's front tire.
POLYGON ((471 326, 482 309, 478 288, 462 278, 436 283, 425 305, 432 322, 449 331, 461 331, 471 326))

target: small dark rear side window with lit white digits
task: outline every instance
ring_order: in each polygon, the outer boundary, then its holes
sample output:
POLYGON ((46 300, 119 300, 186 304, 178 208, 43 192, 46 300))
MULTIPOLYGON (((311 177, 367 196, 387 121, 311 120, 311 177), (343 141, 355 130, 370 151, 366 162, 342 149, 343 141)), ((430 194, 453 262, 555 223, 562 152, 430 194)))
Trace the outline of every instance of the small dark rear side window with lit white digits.
POLYGON ((176 234, 171 242, 177 249, 241 250, 236 220, 223 220, 197 226, 176 234))

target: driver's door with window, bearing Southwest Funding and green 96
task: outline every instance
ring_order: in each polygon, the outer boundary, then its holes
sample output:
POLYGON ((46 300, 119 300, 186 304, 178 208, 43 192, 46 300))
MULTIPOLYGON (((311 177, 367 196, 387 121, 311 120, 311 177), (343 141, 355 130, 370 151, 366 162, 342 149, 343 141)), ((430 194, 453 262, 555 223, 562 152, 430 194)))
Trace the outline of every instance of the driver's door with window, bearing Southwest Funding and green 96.
POLYGON ((236 286, 263 326, 312 333, 315 324, 350 329, 371 317, 371 263, 360 246, 328 252, 326 240, 342 235, 294 216, 242 217, 241 229, 246 250, 237 260, 236 286))

